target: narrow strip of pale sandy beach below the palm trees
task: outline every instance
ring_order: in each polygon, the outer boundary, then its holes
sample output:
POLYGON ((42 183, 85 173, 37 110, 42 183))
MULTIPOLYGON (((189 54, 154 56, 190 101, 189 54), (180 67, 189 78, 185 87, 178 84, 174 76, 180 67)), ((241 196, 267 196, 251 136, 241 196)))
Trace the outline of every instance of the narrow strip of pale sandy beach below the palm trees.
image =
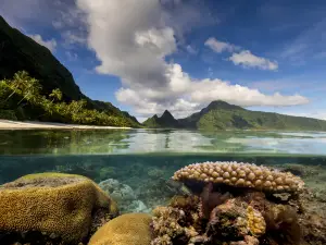
POLYGON ((93 126, 93 125, 78 125, 64 124, 51 122, 18 122, 0 119, 0 130, 128 130, 131 127, 116 127, 116 126, 93 126))

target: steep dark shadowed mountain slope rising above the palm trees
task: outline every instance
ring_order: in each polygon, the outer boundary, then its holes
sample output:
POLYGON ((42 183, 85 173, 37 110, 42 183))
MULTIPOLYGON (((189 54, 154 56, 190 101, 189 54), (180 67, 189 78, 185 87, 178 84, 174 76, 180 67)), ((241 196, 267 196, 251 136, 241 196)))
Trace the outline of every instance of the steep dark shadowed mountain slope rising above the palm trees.
POLYGON ((12 28, 1 16, 0 44, 0 79, 11 78, 18 71, 27 71, 30 76, 40 81, 47 94, 59 88, 64 101, 85 97, 72 73, 49 49, 12 28))

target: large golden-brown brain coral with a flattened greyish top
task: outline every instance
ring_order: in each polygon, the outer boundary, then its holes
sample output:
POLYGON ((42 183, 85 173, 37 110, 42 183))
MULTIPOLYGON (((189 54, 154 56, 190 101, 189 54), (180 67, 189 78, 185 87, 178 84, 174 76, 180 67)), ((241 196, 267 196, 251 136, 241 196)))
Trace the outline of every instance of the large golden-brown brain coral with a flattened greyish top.
POLYGON ((0 186, 0 230, 39 231, 65 243, 80 242, 88 235, 92 211, 109 212, 112 206, 110 197, 87 177, 30 174, 0 186))

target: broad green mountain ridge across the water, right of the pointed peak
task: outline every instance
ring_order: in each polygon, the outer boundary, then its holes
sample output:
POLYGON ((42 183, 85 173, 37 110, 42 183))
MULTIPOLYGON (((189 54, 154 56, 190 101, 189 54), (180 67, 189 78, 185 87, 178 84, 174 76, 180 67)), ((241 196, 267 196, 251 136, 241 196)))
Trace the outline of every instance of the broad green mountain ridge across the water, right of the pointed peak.
MULTIPOLYGON (((221 100, 213 101, 201 111, 177 121, 177 127, 181 128, 326 131, 324 120, 250 111, 221 100)), ((165 127, 162 123, 156 126, 165 127)))

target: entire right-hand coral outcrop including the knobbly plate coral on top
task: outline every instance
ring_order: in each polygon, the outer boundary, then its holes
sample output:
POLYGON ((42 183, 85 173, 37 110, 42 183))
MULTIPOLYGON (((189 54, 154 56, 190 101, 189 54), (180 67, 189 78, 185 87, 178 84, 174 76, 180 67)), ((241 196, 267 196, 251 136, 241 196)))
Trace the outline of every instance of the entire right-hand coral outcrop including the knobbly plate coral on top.
POLYGON ((152 245, 326 244, 326 204, 314 198, 312 193, 303 188, 303 181, 293 174, 248 163, 206 162, 190 167, 177 171, 174 180, 187 184, 187 181, 193 181, 199 175, 197 181, 187 185, 193 194, 175 197, 170 205, 154 210, 152 245), (244 184, 239 185, 237 180, 229 179, 226 183, 215 182, 212 174, 217 164, 221 173, 227 172, 228 177, 243 179, 244 184), (221 168, 223 164, 225 170, 221 168), (251 173, 248 171, 246 176, 240 176, 246 168, 260 176, 262 183, 266 183, 269 175, 274 181, 280 177, 283 183, 279 183, 288 193, 280 193, 278 185, 273 188, 266 188, 263 184, 246 186, 251 173), (201 179, 202 173, 205 179, 201 179), (284 183, 290 182, 286 187, 284 183), (321 208, 325 211, 318 210, 321 208))

